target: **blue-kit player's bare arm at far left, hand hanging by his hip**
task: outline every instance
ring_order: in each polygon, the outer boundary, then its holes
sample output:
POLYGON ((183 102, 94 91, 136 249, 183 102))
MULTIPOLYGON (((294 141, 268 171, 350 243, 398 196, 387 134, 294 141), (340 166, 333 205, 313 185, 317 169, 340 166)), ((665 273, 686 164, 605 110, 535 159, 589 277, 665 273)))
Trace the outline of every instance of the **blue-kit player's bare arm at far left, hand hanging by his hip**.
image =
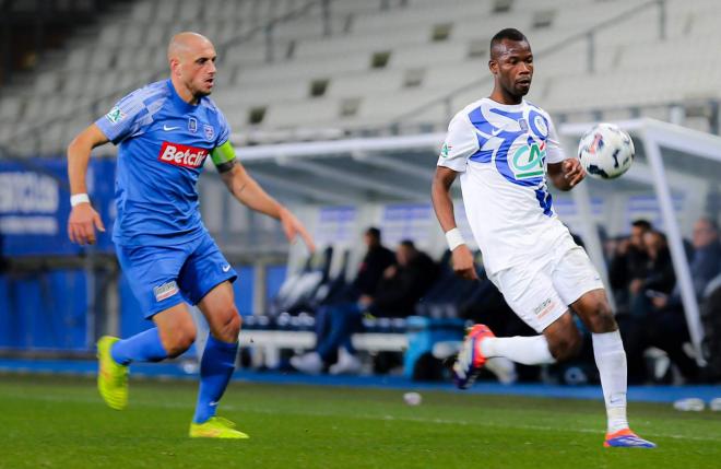
MULTIPOLYGON (((80 132, 68 145, 68 178, 72 196, 87 194, 85 174, 91 151, 108 141, 99 127, 93 124, 80 132)), ((102 232, 105 231, 101 215, 90 202, 81 202, 72 208, 68 219, 68 237, 71 242, 80 245, 94 244, 96 227, 102 232)))

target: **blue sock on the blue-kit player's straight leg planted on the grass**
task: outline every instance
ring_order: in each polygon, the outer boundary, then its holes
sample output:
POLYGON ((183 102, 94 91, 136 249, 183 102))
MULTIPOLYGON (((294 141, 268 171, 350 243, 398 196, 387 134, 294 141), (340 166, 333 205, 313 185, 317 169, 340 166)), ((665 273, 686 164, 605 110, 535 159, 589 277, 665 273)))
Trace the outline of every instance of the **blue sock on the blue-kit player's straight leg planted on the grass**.
POLYGON ((198 404, 192 421, 203 423, 215 415, 217 401, 223 397, 225 388, 235 371, 235 355, 238 342, 222 342, 210 335, 203 357, 200 361, 200 390, 198 404))

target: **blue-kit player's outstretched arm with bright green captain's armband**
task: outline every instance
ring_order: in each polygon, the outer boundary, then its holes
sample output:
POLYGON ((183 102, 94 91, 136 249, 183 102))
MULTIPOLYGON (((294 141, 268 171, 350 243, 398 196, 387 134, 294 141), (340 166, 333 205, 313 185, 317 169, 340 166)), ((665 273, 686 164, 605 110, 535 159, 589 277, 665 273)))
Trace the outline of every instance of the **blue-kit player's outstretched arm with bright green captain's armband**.
POLYGON ((212 151, 211 157, 221 175, 221 179, 240 203, 251 210, 280 220, 288 241, 292 242, 296 236, 300 236, 310 251, 316 250, 312 237, 303 223, 288 209, 269 196, 256 179, 248 174, 246 168, 236 160, 235 150, 229 141, 216 146, 212 151))

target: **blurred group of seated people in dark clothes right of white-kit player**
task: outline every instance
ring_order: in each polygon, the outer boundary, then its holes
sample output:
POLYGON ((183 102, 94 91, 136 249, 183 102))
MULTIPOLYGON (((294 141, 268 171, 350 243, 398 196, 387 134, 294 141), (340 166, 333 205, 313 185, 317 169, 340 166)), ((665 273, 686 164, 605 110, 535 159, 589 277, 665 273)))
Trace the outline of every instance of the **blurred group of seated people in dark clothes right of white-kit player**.
POLYGON ((608 278, 630 383, 658 378, 647 365, 645 352, 649 348, 665 352, 685 382, 718 379, 721 375, 717 363, 721 333, 721 244, 717 223, 707 218, 698 220, 684 248, 701 309, 705 359, 710 362, 705 370, 699 370, 689 347, 681 289, 665 235, 648 221, 637 220, 628 237, 606 243, 608 278))

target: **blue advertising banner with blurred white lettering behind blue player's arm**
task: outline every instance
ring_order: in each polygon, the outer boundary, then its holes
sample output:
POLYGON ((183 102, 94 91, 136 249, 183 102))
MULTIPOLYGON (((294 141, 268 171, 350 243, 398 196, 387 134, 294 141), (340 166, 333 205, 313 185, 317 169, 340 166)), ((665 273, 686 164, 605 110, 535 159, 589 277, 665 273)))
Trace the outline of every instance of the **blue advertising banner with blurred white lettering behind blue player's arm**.
MULTIPOLYGON (((0 236, 5 257, 78 255, 68 239, 70 192, 64 160, 33 160, 32 166, 0 161, 0 236)), ((106 232, 96 250, 111 251, 115 160, 91 160, 87 189, 106 232)))

